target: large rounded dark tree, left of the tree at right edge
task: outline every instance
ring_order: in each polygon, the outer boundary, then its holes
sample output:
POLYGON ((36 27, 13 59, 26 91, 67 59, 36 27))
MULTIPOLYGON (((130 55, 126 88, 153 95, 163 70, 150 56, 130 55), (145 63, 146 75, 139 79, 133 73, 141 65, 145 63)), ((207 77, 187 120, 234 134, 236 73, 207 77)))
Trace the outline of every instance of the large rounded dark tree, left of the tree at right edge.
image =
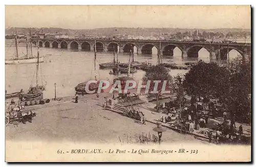
POLYGON ((186 73, 183 82, 185 91, 191 97, 220 97, 229 87, 229 71, 216 63, 199 61, 186 73))

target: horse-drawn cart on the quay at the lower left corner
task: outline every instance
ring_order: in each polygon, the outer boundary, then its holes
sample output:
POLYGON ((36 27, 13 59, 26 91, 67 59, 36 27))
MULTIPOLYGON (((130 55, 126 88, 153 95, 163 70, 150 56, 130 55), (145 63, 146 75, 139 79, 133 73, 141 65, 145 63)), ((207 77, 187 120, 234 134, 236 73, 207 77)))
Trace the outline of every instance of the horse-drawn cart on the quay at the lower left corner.
POLYGON ((32 123, 32 118, 36 116, 36 113, 32 110, 11 110, 6 111, 5 125, 7 126, 10 122, 17 122, 26 124, 26 122, 32 123))

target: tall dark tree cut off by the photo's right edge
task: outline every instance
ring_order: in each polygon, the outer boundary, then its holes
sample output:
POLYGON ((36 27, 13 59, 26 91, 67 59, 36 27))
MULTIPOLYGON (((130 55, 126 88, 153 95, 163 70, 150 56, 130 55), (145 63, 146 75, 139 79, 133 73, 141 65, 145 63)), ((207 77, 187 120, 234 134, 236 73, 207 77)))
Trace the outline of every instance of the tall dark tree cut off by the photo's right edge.
MULTIPOLYGON (((251 118, 251 61, 244 56, 231 61, 230 91, 227 94, 232 119, 250 123, 251 118)), ((230 127, 231 128, 231 127, 230 127)))

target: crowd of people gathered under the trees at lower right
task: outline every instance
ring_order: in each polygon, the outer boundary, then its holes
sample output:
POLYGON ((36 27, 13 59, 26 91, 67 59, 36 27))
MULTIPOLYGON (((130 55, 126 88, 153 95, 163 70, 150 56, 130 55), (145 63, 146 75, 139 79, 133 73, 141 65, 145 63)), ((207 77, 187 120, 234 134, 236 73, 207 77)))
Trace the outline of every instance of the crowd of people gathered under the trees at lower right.
MULTIPOLYGON (((218 108, 217 105, 219 104, 215 101, 198 102, 192 98, 190 105, 182 105, 182 109, 175 107, 177 111, 180 111, 176 113, 178 121, 175 123, 179 128, 188 132, 196 131, 196 133, 208 136, 209 142, 213 140, 217 144, 243 142, 243 127, 240 125, 239 130, 236 129, 235 115, 230 115, 231 113, 228 113, 225 107, 218 108)), ((172 125, 178 128, 175 123, 172 125)))

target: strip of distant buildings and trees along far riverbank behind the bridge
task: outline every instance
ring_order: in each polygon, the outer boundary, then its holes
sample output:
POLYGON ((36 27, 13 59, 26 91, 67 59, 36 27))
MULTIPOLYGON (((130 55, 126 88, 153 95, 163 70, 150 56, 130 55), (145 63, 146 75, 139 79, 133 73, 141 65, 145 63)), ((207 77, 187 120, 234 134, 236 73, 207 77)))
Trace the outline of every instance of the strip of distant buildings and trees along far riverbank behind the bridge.
MULTIPOLYGON (((226 32, 226 33, 214 33, 214 32, 205 32, 205 31, 186 31, 186 32, 172 32, 172 33, 159 33, 159 34, 153 34, 153 33, 136 33, 135 34, 111 34, 111 35, 103 35, 103 34, 81 34, 79 32, 70 33, 70 32, 44 32, 41 31, 39 34, 31 34, 32 39, 37 39, 39 36, 39 39, 123 39, 123 40, 175 40, 175 41, 193 41, 195 39, 205 39, 206 41, 221 41, 224 39, 229 40, 241 40, 248 41, 250 40, 251 36, 249 33, 244 34, 243 33, 237 33, 237 32, 226 32)), ((6 39, 13 39, 15 36, 15 33, 12 34, 6 34, 6 39)), ((20 33, 17 35, 17 39, 26 39, 30 38, 30 34, 26 33, 20 33)))

